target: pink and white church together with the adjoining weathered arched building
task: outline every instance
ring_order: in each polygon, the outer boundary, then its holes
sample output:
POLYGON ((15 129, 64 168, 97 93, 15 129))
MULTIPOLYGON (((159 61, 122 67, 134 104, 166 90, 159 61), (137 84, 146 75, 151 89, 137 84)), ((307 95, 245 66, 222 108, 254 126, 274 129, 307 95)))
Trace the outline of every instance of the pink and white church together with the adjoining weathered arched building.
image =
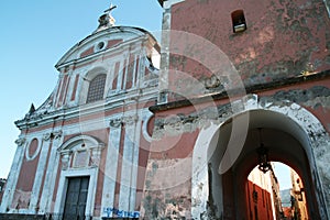
POLYGON ((273 205, 248 177, 280 162, 330 219, 329 1, 158 2, 160 42, 110 7, 56 64, 0 217, 255 219, 273 205))

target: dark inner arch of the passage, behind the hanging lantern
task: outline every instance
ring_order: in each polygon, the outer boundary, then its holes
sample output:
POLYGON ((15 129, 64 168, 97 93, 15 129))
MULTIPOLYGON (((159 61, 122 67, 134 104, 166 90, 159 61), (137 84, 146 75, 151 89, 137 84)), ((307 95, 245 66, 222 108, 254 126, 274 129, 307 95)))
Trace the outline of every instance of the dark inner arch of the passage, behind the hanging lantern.
MULTIPOLYGON (((253 112, 252 114, 254 113, 261 112, 253 112)), ((254 116, 252 116, 252 118, 254 118, 254 116)), ((232 193, 230 193, 230 190, 224 190, 223 193, 223 198, 227 198, 224 207, 234 207, 234 210, 231 210, 231 213, 228 212, 228 210, 223 210, 223 212, 234 216, 235 219, 244 219, 244 217, 248 217, 249 215, 248 202, 244 197, 244 187, 248 175, 257 165, 256 151, 260 146, 258 133, 258 129, 249 130, 246 142, 238 158, 238 163, 222 175, 222 182, 232 186, 232 193), (237 195, 231 197, 232 194, 237 195), (237 210, 240 211, 238 212, 237 210)), ((310 161, 308 158, 310 155, 306 153, 304 146, 290 134, 271 128, 262 128, 262 142, 268 150, 270 161, 285 163, 299 173, 305 183, 305 194, 308 201, 308 210, 310 211, 309 219, 311 219, 311 217, 312 219, 320 219, 316 195, 317 188, 314 184, 310 161)), ((223 188, 226 189, 228 186, 223 186, 223 188)))

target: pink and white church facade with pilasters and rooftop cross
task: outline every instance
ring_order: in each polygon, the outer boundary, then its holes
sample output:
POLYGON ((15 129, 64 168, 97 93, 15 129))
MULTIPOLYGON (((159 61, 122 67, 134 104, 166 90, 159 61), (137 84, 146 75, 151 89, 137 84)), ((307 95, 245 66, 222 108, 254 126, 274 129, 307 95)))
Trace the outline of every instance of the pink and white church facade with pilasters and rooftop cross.
POLYGON ((47 100, 15 122, 21 134, 1 212, 140 216, 160 45, 143 29, 116 26, 112 9, 56 64, 47 100))

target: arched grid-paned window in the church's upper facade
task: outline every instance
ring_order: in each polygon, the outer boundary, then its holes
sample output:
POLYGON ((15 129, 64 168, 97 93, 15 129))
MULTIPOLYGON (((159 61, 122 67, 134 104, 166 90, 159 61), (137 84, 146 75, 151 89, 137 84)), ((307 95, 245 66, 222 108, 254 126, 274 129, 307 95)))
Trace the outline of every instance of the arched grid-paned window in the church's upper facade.
POLYGON ((90 80, 86 103, 103 99, 106 78, 106 74, 99 74, 90 80))

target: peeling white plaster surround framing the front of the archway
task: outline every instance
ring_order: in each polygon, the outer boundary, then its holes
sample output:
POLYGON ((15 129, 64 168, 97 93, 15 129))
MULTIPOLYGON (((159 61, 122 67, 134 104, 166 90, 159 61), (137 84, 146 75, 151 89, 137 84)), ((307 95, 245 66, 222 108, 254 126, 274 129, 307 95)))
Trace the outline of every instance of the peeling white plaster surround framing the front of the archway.
MULTIPOLYGON (((251 96, 248 96, 245 101, 245 110, 249 109, 264 109, 274 112, 279 112, 283 114, 283 118, 287 118, 289 120, 295 121, 295 123, 299 124, 299 128, 304 130, 304 133, 298 134, 298 130, 286 131, 288 133, 296 133, 295 136, 299 136, 299 142, 305 145, 305 151, 309 155, 309 165, 311 166, 311 176, 314 190, 318 197, 318 208, 320 211, 321 219, 329 218, 329 197, 328 197, 328 188, 329 188, 329 175, 327 174, 328 168, 326 167, 329 160, 329 133, 326 132, 322 124, 306 109, 301 108, 296 103, 293 103, 287 100, 276 100, 272 97, 258 97, 257 99, 253 99, 251 96), (246 101, 246 102, 245 102, 246 101), (305 140, 305 141, 304 141, 305 140), (308 141, 306 141, 308 140, 308 141)), ((328 107, 327 107, 328 108, 328 107)), ((212 123, 219 124, 219 128, 223 124, 222 119, 229 119, 229 117, 220 117, 219 122, 213 121, 212 123)), ((267 121, 267 120, 266 120, 267 121)), ((328 119, 329 121, 329 119, 328 119)), ((230 122, 231 123, 231 122, 230 122)), ((275 122, 276 123, 276 122, 275 122)), ((266 127, 272 127, 274 124, 266 124, 266 127)), ((278 124, 279 125, 279 124, 278 124)), ((287 127, 287 123, 280 123, 277 129, 284 129, 287 127)), ((216 127, 208 127, 201 130, 201 134, 198 136, 198 141, 195 145, 195 153, 193 158, 193 217, 199 219, 200 215, 211 215, 208 210, 210 204, 209 199, 205 195, 209 189, 209 179, 208 176, 208 155, 204 148, 217 146, 217 144, 211 143, 215 138, 215 132, 217 131, 216 127), (206 199, 207 198, 207 199, 206 199), (208 211, 207 211, 208 210, 208 211), (206 213, 207 212, 207 213, 206 213)), ((292 133, 292 134, 293 134, 292 133)), ((285 156, 284 156, 285 157, 285 156)), ((219 209, 219 207, 218 207, 219 209)), ((316 210, 311 210, 316 211, 316 210)), ((212 211, 211 211, 212 212, 212 211)))

